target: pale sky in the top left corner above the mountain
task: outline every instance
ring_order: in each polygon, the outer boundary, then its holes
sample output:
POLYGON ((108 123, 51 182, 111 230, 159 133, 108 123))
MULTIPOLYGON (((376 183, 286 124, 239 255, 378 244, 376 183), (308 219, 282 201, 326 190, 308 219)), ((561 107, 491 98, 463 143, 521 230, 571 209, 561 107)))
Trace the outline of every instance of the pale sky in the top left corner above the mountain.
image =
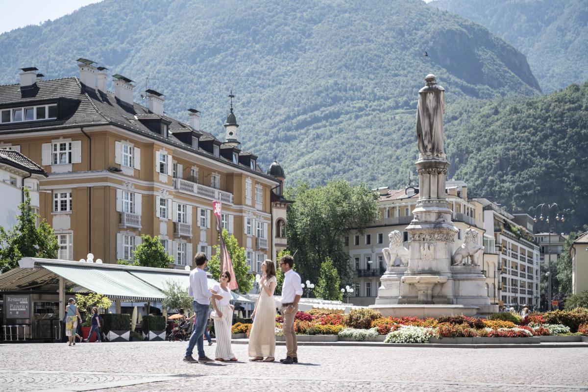
POLYGON ((71 14, 100 0, 0 0, 0 34, 71 14))

